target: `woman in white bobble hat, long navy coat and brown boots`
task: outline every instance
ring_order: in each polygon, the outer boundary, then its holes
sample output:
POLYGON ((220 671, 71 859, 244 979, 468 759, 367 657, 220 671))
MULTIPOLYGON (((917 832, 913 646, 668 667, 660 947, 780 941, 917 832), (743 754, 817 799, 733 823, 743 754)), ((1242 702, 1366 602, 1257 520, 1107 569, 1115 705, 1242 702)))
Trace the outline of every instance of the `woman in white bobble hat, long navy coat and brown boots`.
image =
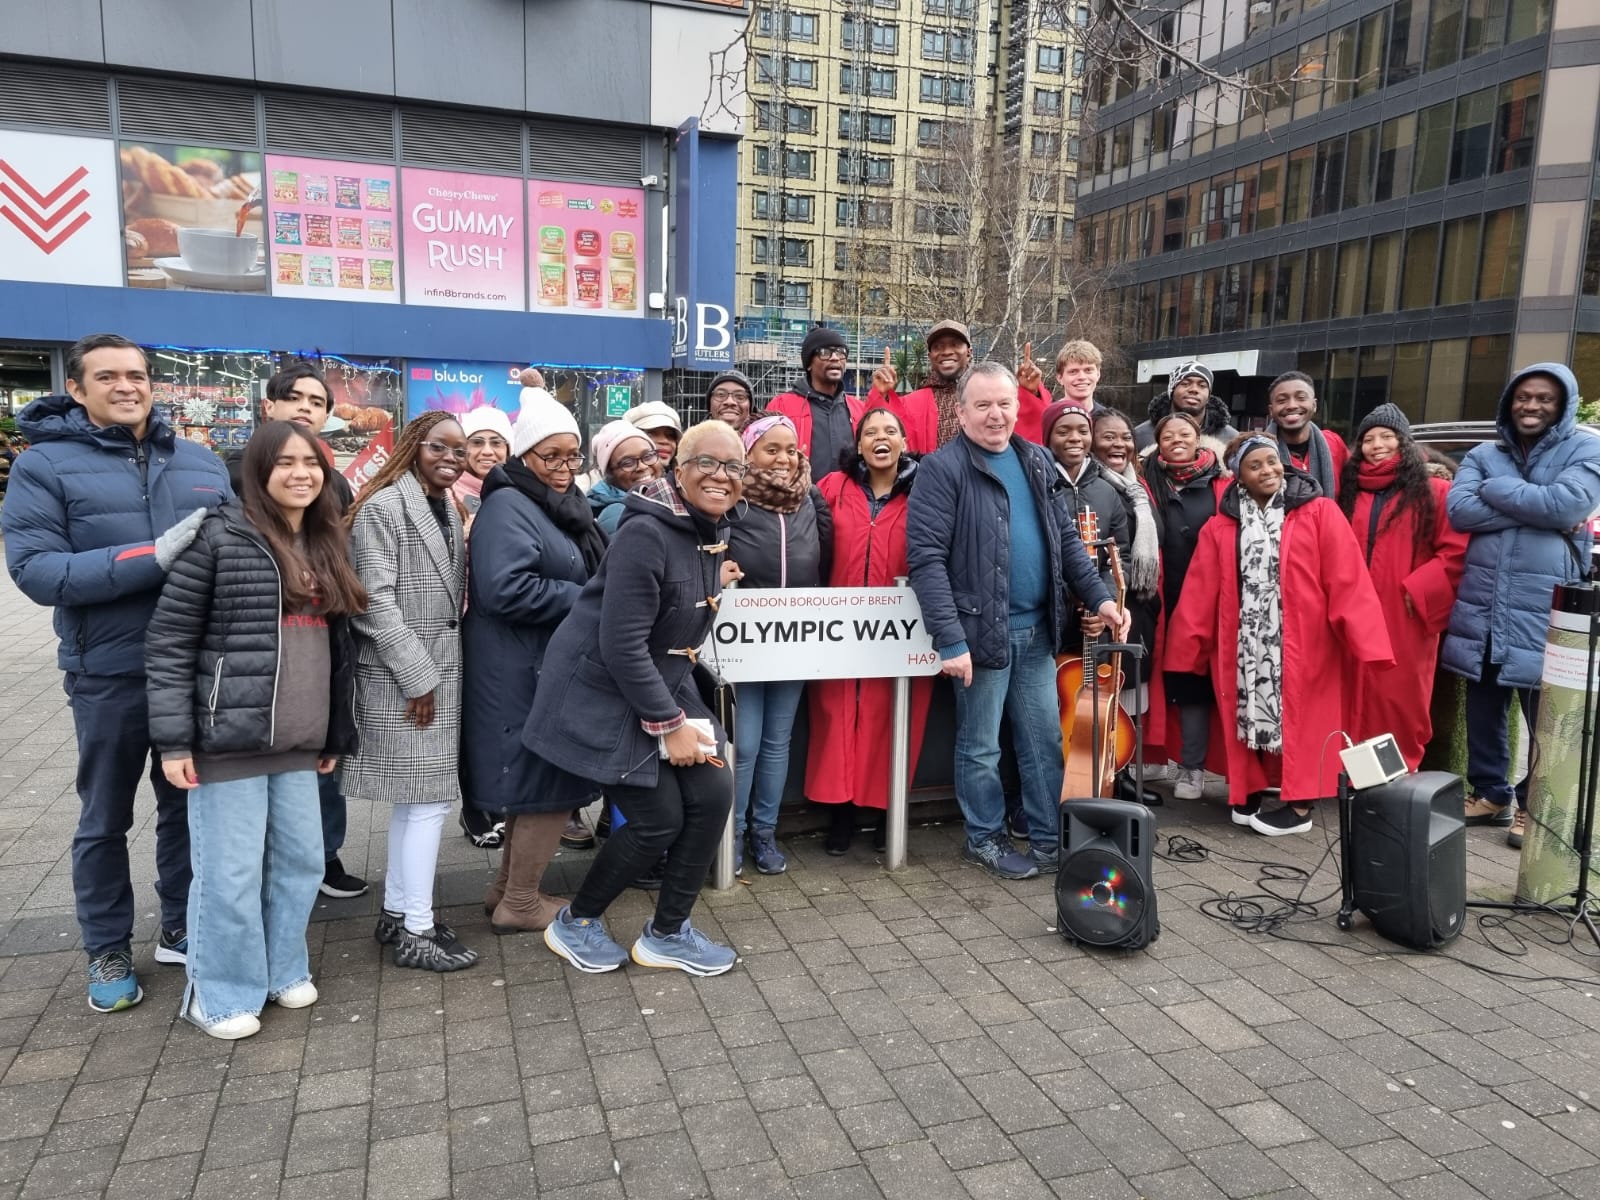
POLYGON ((605 554, 605 534, 576 485, 584 456, 571 411, 536 392, 522 405, 510 450, 483 480, 461 635, 462 790, 469 805, 506 814, 499 875, 483 898, 494 933, 542 930, 560 909, 539 888, 574 798, 555 800, 534 784, 536 762, 518 731, 550 635, 605 554))

